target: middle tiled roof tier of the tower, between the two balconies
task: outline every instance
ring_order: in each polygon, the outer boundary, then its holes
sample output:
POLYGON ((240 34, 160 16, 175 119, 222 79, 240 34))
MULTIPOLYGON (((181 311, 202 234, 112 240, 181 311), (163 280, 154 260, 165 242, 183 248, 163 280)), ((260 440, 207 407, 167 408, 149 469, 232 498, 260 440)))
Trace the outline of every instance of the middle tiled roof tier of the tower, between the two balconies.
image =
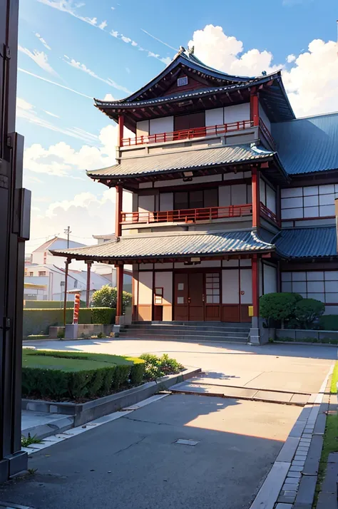
POLYGON ((188 168, 204 168, 205 166, 230 165, 249 160, 265 160, 272 158, 274 152, 250 145, 205 148, 201 150, 183 150, 182 152, 143 155, 139 158, 121 159, 121 163, 88 171, 89 177, 133 177, 151 173, 165 173, 188 168))

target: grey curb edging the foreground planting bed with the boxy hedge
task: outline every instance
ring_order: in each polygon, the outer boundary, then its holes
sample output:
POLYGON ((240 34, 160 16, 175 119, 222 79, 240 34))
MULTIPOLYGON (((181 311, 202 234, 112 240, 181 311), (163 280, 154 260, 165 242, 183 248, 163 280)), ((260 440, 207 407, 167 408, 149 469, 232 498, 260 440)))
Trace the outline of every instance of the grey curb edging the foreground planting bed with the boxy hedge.
POLYGON ((68 415, 68 417, 63 416, 59 421, 53 421, 53 423, 26 429, 24 433, 31 433, 31 435, 36 435, 37 438, 46 438, 46 436, 51 436, 60 432, 60 430, 56 428, 58 425, 63 426, 63 431, 66 431, 66 426, 67 429, 81 426, 99 417, 121 410, 121 408, 126 408, 126 406, 139 403, 143 401, 143 399, 147 399, 159 391, 169 389, 169 387, 175 384, 190 379, 192 376, 199 374, 200 371, 200 368, 185 369, 185 371, 178 374, 163 376, 158 379, 158 381, 147 382, 142 386, 133 387, 133 389, 127 389, 126 391, 104 396, 103 398, 88 401, 87 403, 58 403, 53 401, 23 399, 21 408, 24 410, 63 413, 68 415))

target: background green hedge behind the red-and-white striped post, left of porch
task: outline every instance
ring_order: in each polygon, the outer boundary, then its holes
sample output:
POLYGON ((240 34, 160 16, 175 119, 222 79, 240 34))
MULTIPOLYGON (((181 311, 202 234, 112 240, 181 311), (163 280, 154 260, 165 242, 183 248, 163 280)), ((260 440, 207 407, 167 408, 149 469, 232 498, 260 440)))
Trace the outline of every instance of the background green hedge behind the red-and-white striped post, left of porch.
MULTIPOLYGON (((115 309, 108 308, 80 308, 78 313, 79 324, 111 324, 115 322, 115 309), (96 314, 93 310, 96 309, 96 314), (99 309, 99 311, 97 311, 99 309), (100 317, 108 320, 105 322, 97 321, 100 317), (94 320, 95 318, 96 320, 94 320)), ((73 322, 73 309, 66 309, 66 323, 73 322)), ((49 327, 57 327, 63 325, 63 309, 24 309, 24 339, 31 334, 48 334, 49 327)))

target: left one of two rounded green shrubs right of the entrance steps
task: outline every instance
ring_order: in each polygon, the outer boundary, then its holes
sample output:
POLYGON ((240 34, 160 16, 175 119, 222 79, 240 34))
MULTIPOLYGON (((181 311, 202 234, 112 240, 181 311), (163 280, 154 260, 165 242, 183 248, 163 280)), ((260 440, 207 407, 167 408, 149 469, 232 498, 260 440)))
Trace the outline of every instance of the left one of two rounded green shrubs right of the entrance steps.
POLYGON ((302 300, 302 296, 293 293, 272 293, 260 297, 260 316, 267 320, 281 322, 284 329, 285 322, 295 317, 295 306, 302 300))

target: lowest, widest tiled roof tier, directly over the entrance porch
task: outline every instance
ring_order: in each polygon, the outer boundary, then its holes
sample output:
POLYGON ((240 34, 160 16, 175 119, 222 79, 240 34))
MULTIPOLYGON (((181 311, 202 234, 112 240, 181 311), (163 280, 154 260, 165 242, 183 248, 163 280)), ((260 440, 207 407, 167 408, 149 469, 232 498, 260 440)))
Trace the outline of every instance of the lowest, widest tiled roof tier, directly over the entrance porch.
POLYGON ((58 256, 73 255, 81 259, 133 259, 154 257, 185 257, 218 255, 232 252, 266 252, 274 246, 262 241, 255 232, 204 232, 170 235, 139 235, 120 237, 102 245, 74 250, 56 250, 58 256))

